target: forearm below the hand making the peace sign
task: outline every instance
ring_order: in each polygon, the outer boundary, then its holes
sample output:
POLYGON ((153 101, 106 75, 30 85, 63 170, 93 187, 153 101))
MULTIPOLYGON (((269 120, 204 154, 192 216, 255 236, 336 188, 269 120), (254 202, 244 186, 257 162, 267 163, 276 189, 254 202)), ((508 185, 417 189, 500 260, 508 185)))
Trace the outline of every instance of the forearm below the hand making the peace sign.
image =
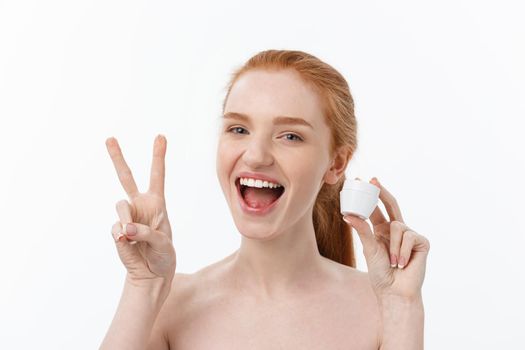
POLYGON ((117 311, 100 350, 144 349, 171 281, 131 283, 127 278, 117 311))

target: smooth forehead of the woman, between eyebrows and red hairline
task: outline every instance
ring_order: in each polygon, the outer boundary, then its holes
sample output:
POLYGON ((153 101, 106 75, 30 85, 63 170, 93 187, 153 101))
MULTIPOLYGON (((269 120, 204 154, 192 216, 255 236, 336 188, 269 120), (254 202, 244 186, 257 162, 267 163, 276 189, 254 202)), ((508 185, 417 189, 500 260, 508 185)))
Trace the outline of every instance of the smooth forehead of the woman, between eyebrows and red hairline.
POLYGON ((254 118, 287 115, 323 123, 319 95, 293 70, 251 70, 233 85, 224 112, 254 118))

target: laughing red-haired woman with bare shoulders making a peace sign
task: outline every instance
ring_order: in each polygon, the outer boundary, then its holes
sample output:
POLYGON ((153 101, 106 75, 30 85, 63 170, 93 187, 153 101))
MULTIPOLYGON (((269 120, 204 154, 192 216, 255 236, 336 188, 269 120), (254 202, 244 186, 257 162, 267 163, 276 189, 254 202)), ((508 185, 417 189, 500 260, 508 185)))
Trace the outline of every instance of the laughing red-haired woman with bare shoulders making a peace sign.
POLYGON ((101 348, 422 349, 428 240, 404 224, 376 178, 389 218, 376 207, 371 228, 340 214, 356 135, 348 85, 328 64, 268 50, 240 67, 223 104, 216 169, 241 246, 194 274, 174 273, 166 139, 155 140, 150 189, 139 193, 109 138, 130 198, 117 203, 112 229, 128 273, 101 348), (368 273, 355 269, 352 227, 368 273))

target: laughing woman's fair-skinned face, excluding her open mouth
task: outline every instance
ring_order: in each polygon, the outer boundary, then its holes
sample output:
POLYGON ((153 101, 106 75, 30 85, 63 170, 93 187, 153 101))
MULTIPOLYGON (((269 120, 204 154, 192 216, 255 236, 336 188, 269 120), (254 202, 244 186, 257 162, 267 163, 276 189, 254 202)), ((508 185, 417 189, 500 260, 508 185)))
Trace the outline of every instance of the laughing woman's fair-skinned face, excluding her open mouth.
POLYGON ((337 181, 318 94, 293 70, 252 70, 232 87, 224 115, 230 117, 221 121, 216 171, 239 232, 268 240, 311 225, 321 186, 337 181), (283 116, 303 122, 279 119, 283 116), (243 210, 240 172, 264 174, 284 186, 268 213, 243 210))

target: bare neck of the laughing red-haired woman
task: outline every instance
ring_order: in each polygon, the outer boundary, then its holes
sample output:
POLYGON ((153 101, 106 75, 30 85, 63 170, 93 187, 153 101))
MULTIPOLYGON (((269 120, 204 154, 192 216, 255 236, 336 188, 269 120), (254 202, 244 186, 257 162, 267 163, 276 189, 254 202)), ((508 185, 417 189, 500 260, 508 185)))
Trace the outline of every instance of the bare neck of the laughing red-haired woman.
POLYGON ((241 246, 231 258, 239 283, 262 298, 310 288, 326 272, 326 258, 319 253, 311 215, 270 240, 242 236, 241 246))

